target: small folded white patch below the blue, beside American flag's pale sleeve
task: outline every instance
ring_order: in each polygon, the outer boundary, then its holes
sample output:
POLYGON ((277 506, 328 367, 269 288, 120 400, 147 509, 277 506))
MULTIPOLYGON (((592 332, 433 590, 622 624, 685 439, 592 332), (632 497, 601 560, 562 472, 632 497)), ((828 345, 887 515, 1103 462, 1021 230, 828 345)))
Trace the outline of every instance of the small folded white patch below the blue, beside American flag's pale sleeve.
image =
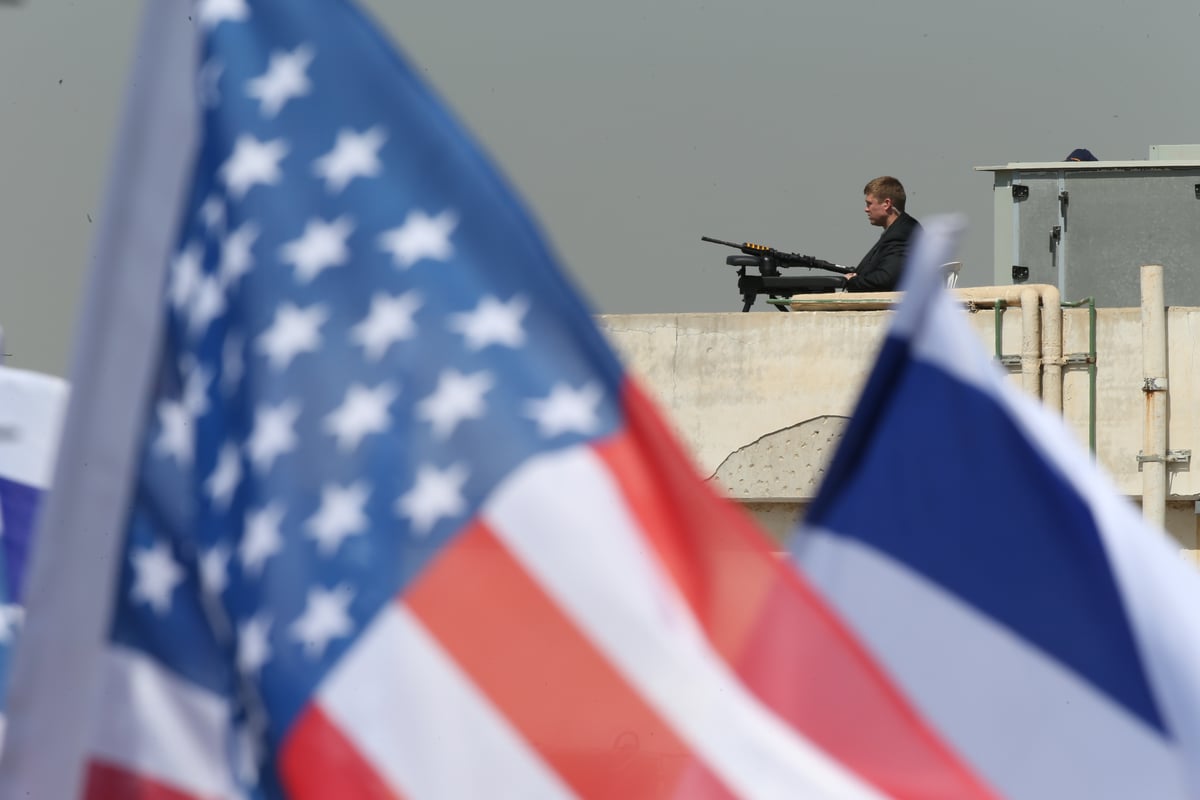
POLYGON ((234 796, 229 706, 127 648, 104 656, 91 756, 198 798, 234 796))

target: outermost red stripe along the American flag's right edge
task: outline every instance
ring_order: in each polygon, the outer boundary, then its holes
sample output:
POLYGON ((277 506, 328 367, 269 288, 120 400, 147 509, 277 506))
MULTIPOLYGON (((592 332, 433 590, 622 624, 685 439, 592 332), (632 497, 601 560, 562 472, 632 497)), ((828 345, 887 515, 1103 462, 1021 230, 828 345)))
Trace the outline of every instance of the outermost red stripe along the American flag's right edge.
POLYGON ((641 389, 596 447, 714 646, 776 714, 898 798, 994 798, 750 517, 696 475, 641 389))

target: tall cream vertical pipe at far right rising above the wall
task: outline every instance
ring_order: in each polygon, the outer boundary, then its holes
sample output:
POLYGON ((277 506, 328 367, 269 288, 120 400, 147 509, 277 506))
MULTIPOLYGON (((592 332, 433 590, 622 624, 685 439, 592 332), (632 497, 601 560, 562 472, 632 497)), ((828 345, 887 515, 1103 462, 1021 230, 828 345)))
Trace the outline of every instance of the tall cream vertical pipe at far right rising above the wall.
POLYGON ((1141 377, 1146 396, 1142 422, 1141 515, 1166 523, 1166 312, 1163 267, 1141 267, 1141 377))

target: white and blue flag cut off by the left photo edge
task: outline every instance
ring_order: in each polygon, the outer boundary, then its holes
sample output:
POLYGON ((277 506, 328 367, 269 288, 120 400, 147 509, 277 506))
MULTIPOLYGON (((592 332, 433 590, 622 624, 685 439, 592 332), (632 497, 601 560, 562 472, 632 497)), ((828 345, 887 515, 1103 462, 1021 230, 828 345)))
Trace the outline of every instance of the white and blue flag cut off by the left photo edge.
MULTIPOLYGON (((0 367, 0 691, 8 684, 24 616, 25 563, 54 470, 66 401, 62 379, 0 367)), ((0 730, 2 720, 0 715, 0 730)))

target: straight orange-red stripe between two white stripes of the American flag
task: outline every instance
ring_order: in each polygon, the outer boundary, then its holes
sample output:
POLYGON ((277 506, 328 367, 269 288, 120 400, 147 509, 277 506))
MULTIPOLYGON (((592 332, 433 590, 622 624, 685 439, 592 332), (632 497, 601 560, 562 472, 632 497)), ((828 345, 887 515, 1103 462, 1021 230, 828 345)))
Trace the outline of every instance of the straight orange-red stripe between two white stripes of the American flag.
POLYGON ((685 769, 707 772, 485 524, 460 534, 404 602, 581 795, 678 796, 685 769))

